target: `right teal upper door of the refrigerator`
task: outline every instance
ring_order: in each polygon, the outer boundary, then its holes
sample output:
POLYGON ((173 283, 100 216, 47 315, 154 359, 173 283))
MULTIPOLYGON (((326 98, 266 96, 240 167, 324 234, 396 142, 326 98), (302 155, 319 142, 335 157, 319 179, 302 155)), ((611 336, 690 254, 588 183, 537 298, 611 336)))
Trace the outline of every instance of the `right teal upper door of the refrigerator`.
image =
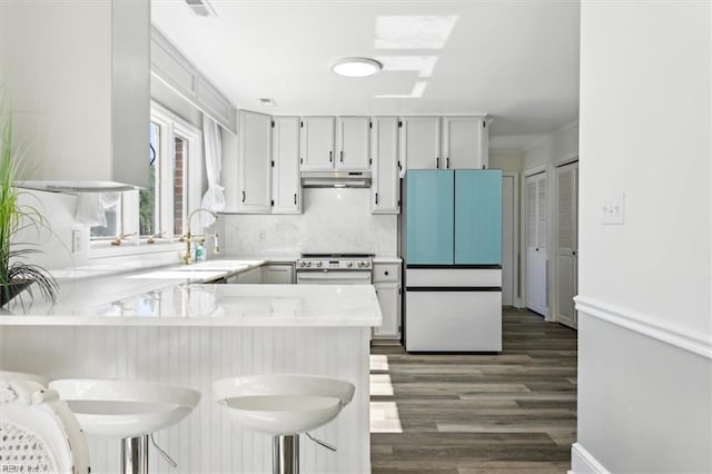
POLYGON ((455 264, 502 265, 502 171, 455 171, 455 264))

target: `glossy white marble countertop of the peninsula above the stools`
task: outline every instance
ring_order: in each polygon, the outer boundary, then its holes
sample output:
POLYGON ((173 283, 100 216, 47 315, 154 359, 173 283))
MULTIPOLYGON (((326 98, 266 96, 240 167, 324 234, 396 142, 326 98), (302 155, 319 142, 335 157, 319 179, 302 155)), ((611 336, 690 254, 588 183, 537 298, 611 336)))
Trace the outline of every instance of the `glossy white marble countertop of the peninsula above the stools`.
POLYGON ((370 285, 172 284, 102 303, 12 305, 0 326, 369 327, 382 324, 370 285))

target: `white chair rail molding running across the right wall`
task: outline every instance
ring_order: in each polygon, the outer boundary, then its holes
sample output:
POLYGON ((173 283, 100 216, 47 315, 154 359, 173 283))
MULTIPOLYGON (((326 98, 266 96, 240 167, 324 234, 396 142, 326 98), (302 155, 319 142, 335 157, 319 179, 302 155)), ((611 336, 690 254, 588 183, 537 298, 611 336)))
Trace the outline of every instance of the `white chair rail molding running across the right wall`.
POLYGON ((594 298, 576 296, 574 300, 576 302, 576 310, 578 310, 578 319, 582 316, 593 316, 712 359, 712 337, 706 334, 684 330, 666 323, 654 323, 650 318, 624 308, 600 303, 594 298))

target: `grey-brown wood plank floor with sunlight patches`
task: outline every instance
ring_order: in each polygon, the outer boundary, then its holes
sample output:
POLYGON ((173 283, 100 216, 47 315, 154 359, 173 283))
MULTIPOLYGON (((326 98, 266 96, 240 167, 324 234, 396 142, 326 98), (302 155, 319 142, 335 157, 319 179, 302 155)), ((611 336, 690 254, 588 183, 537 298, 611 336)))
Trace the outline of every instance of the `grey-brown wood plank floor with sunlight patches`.
POLYGON ((500 355, 370 356, 374 474, 541 474, 570 468, 576 332, 505 309, 500 355))

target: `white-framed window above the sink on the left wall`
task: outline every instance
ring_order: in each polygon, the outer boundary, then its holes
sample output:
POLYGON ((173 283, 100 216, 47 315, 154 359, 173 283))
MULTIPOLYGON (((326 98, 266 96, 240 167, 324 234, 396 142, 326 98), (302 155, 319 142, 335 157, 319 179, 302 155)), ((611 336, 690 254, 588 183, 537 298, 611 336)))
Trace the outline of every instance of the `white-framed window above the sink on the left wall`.
POLYGON ((91 227, 93 241, 120 235, 174 241, 187 231, 188 209, 198 207, 201 198, 201 134, 169 110, 151 103, 148 135, 148 186, 115 194, 113 198, 102 195, 107 224, 91 227))

